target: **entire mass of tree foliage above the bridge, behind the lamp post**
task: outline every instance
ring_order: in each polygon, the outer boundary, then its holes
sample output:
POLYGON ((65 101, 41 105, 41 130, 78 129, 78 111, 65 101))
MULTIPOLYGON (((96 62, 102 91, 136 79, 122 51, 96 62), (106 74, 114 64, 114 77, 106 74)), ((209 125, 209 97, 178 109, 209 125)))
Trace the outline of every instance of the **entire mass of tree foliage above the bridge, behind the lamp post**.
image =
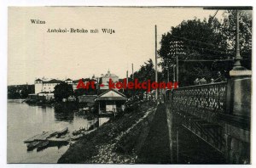
MULTIPOLYGON (((170 76, 173 75, 172 66, 176 64, 176 56, 181 86, 191 85, 196 77, 204 76, 209 81, 218 72, 227 76, 236 51, 236 12, 225 11, 223 17, 223 21, 212 16, 204 20, 183 20, 180 25, 162 35, 158 52, 164 76, 168 69, 170 76)), ((241 63, 250 69, 252 20, 250 14, 243 11, 240 13, 240 36, 241 63)))

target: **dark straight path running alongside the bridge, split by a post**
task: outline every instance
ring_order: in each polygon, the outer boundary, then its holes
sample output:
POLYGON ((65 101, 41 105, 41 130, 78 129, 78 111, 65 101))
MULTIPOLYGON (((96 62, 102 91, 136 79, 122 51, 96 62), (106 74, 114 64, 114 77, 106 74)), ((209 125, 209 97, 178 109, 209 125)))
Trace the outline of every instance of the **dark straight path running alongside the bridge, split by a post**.
MULTIPOLYGON (((173 118, 174 125, 180 123, 173 118)), ((180 126, 180 125, 179 125, 180 126)), ((155 112, 154 120, 149 128, 148 137, 138 154, 137 163, 140 164, 172 164, 166 121, 166 106, 160 104, 155 112)), ((173 127, 172 135, 176 140, 177 129, 173 127)), ((224 164, 224 158, 214 148, 203 142, 199 137, 179 127, 179 160, 177 162, 177 143, 173 143, 174 164, 224 164)))

